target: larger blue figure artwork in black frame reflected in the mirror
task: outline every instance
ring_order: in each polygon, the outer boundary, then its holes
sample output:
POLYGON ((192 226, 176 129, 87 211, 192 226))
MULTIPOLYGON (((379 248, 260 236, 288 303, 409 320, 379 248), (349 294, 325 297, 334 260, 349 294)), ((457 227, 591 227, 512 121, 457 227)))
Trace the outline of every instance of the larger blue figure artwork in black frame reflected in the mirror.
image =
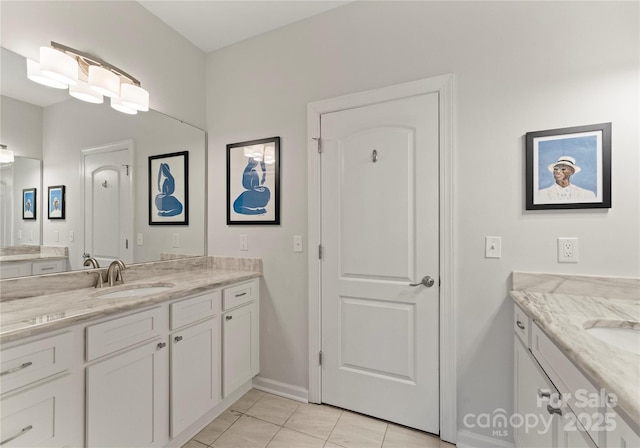
POLYGON ((189 225, 189 151, 149 156, 149 225, 189 225))

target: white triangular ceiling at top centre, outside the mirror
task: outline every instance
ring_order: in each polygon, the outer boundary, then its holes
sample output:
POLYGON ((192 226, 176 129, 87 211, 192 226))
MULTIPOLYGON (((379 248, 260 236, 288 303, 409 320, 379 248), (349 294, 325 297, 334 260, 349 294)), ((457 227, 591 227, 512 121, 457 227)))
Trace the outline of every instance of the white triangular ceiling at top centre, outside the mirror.
POLYGON ((205 53, 343 6, 334 0, 138 0, 205 53))

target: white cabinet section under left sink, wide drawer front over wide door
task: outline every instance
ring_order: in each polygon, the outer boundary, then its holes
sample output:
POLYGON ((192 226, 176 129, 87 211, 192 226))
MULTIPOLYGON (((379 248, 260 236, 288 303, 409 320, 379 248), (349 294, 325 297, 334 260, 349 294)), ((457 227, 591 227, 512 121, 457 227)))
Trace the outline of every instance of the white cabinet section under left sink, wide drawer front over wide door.
POLYGON ((161 447, 168 441, 166 309, 86 328, 86 446, 161 447))

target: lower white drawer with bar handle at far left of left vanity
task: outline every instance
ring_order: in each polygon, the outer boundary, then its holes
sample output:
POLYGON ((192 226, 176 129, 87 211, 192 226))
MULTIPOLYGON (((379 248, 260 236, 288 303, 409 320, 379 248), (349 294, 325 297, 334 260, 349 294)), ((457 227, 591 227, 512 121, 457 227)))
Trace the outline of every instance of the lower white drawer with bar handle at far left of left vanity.
POLYGON ((2 399, 0 445, 3 447, 62 447, 76 440, 72 375, 2 399))

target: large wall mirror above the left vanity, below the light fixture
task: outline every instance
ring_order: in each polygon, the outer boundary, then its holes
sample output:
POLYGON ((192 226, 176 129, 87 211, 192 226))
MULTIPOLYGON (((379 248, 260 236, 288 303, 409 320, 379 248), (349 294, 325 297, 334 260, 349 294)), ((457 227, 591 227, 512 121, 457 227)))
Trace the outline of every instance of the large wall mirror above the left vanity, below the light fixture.
POLYGON ((87 254, 101 266, 206 254, 205 131, 154 110, 131 116, 108 101, 78 101, 29 81, 21 55, 2 48, 1 57, 0 143, 16 158, 0 166, 0 255, 8 247, 66 247, 76 270, 87 254), (149 187, 161 179, 149 181, 149 158, 185 151, 188 225, 150 225, 149 201, 158 192, 149 187), (61 185, 65 216, 50 218, 48 188, 61 185), (29 188, 37 189, 35 220, 23 219, 29 188))

